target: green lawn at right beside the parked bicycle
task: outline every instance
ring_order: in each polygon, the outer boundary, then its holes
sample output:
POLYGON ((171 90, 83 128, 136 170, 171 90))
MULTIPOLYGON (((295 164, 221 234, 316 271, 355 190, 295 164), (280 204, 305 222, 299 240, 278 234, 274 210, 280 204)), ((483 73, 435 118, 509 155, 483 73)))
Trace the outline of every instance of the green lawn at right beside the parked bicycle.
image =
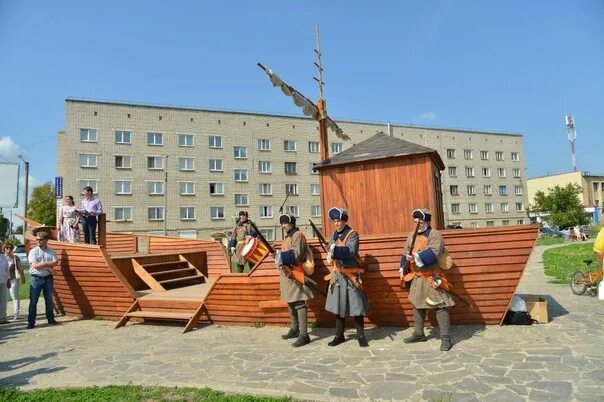
POLYGON ((575 271, 586 270, 583 260, 593 260, 591 270, 599 268, 592 251, 593 244, 570 244, 545 250, 543 265, 546 275, 554 277, 554 283, 570 283, 570 276, 575 271))

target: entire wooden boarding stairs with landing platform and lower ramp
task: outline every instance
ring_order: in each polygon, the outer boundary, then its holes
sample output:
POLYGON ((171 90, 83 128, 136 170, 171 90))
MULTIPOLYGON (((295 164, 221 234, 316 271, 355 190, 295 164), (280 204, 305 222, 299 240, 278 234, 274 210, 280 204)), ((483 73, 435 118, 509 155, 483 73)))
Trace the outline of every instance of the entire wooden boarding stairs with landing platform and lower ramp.
POLYGON ((211 323, 205 300, 215 282, 208 282, 205 275, 184 256, 175 254, 173 257, 161 262, 132 258, 134 272, 150 291, 138 292, 140 296, 115 328, 123 327, 131 318, 187 321, 183 333, 192 330, 204 315, 205 321, 211 323))

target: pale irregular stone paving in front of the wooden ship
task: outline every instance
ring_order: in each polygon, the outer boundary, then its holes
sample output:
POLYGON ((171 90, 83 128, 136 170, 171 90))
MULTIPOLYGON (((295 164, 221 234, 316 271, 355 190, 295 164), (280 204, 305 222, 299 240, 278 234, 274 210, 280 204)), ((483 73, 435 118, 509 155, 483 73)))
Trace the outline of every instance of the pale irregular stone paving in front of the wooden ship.
POLYGON ((202 326, 183 335, 182 325, 114 330, 114 322, 70 317, 51 327, 41 314, 33 330, 24 319, 0 326, 0 384, 207 386, 324 401, 602 401, 604 301, 549 283, 544 249, 533 251, 519 293, 543 295, 550 323, 454 326, 449 352, 436 336, 405 345, 410 328, 369 329, 365 349, 354 332, 330 348, 333 330, 318 329, 294 349, 280 339, 283 328, 202 326))

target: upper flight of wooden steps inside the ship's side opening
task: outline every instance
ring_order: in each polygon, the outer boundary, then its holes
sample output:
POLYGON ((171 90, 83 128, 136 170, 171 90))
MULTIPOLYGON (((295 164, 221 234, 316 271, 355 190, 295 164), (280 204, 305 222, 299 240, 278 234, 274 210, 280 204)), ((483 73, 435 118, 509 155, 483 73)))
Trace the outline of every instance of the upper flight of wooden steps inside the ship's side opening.
POLYGON ((138 277, 156 292, 207 281, 206 277, 182 255, 178 255, 178 260, 153 263, 140 263, 133 258, 132 266, 138 277))

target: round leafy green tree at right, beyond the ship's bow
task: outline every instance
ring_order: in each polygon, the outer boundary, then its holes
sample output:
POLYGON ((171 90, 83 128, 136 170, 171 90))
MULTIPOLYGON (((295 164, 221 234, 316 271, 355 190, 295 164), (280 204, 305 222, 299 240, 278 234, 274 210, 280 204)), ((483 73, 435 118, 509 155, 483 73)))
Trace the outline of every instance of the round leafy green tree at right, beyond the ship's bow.
POLYGON ((560 228, 586 225, 589 223, 589 218, 579 199, 579 194, 582 191, 581 186, 572 183, 564 187, 548 188, 547 194, 543 191, 537 191, 529 211, 549 213, 547 221, 560 228))

